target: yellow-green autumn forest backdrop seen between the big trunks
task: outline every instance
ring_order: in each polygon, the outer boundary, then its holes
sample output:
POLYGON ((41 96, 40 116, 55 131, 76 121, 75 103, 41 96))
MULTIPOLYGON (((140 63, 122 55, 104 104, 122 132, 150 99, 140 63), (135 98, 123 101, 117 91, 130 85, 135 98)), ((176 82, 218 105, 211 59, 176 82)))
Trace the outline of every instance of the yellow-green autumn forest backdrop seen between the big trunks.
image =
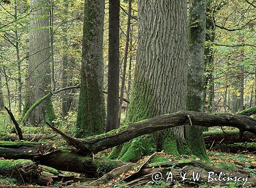
MULTIPOLYGON (((52 28, 52 34, 54 35, 52 43, 54 69, 52 69, 52 62, 50 62, 50 66, 51 72, 54 70, 56 89, 60 87, 74 86, 80 83, 80 70, 82 65, 80 58, 82 55, 83 3, 83 1, 78 0, 53 1, 51 2, 51 5, 53 5, 53 14, 51 15, 53 18, 53 23, 51 23, 52 26, 45 25, 44 27, 40 26, 39 28, 32 28, 35 31, 43 29, 50 30, 50 27, 52 28)), ((128 2, 120 2, 120 65, 118 68, 119 71, 114 72, 121 75, 124 70, 127 71, 127 75, 124 77, 123 98, 130 98, 134 83, 133 78, 138 42, 137 3, 137 1, 132 2, 131 8, 130 34, 132 37, 129 39, 129 49, 127 51, 127 57, 129 58, 127 59, 127 62, 129 63, 129 66, 127 65, 126 69, 123 69, 129 4, 128 2)), ((239 110, 238 107, 242 109, 242 106, 243 108, 247 108, 255 105, 255 41, 253 39, 255 19, 252 15, 254 7, 246 1, 236 0, 229 2, 211 0, 206 1, 206 4, 207 34, 205 61, 208 61, 208 63, 205 63, 204 70, 204 110, 207 112, 236 113, 239 110), (241 97, 242 94, 243 97, 241 97), (241 102, 242 98, 243 102, 241 102)), ((49 8, 49 4, 47 4, 47 7, 49 8)), ((6 106, 10 106, 15 117, 18 119, 18 117, 20 117, 18 114, 20 111, 20 104, 22 105, 22 110, 25 109, 26 111, 24 105, 26 105, 25 99, 28 96, 27 92, 29 92, 29 88, 26 87, 26 80, 29 80, 29 26, 30 22, 32 22, 29 15, 32 14, 33 11, 31 12, 32 9, 27 2, 20 0, 11 4, 1 3, 0 8, 1 18, 3 18, 1 19, 0 26, 1 91, 6 106), (16 18, 14 16, 15 9, 16 18), (16 46, 18 46, 18 51, 16 46), (17 54, 19 54, 19 58, 17 54)), ((109 71, 109 29, 113 29, 113 27, 109 28, 108 2, 105 2, 104 10, 102 88, 104 91, 107 91, 109 71)), ((40 21, 45 18, 46 17, 38 17, 38 20, 40 21)), ((117 35, 118 32, 114 32, 113 34, 117 35)), ((50 66, 44 68, 48 73, 50 66)), ((48 74, 46 75, 48 77, 48 74)), ((50 75, 52 75, 52 73, 50 75)), ((53 82, 51 82, 51 85, 52 83, 53 82)), ((166 85, 167 83, 163 84, 166 85)), ((45 90, 48 92, 50 90, 49 83, 45 87, 45 90)), ((121 79, 119 81, 119 92, 120 89, 121 79)), ((45 90, 40 90, 40 92, 45 92, 45 90)), ((42 94, 42 96, 44 94, 42 94)), ((111 94, 112 92, 110 95, 111 94)), ((104 98, 106 99, 106 97, 107 95, 105 94, 104 98)), ((117 94, 115 94, 115 97, 116 100, 117 94)), ((111 98, 112 97, 110 97, 110 99, 111 98)), ((114 98, 112 99, 114 100, 114 98)), ((65 92, 53 95, 52 105, 57 116, 55 122, 63 123, 63 120, 68 124, 76 122, 78 100, 79 89, 66 90, 65 92), (62 116, 62 118, 60 116, 62 116)), ((105 108, 106 106, 107 102, 104 103, 105 108)), ((121 106, 126 108, 126 106, 129 106, 129 103, 122 103, 121 106)), ((114 108, 110 109, 113 110, 114 108)), ((42 112, 40 111, 40 113, 42 112)), ((127 113, 126 109, 125 113, 127 113)), ((125 113, 121 113, 121 125, 126 121, 125 113)), ((109 114, 113 115, 113 113, 109 114)), ((3 117, 8 119, 7 114, 3 114, 3 117)), ((130 117, 130 115, 128 117, 130 117)), ((127 121, 128 120, 129 119, 127 119, 127 121)), ((115 123, 110 125, 113 126, 114 124, 115 123)), ((71 128, 73 127, 71 126, 71 128)), ((74 129, 69 129, 69 131, 74 133, 74 129)))

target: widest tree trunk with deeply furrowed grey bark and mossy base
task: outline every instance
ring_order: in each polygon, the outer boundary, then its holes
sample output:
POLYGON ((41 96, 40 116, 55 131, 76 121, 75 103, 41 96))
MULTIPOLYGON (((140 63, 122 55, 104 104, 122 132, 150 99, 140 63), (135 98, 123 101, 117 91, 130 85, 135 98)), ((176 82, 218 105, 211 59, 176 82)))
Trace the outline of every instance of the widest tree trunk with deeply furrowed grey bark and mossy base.
MULTIPOLYGON (((139 40, 127 120, 136 122, 185 109, 187 81, 186 1, 139 1, 139 40), (164 6, 162 6, 164 5, 164 6)), ((184 126, 124 144, 119 158, 137 160, 156 150, 190 153, 184 126)))

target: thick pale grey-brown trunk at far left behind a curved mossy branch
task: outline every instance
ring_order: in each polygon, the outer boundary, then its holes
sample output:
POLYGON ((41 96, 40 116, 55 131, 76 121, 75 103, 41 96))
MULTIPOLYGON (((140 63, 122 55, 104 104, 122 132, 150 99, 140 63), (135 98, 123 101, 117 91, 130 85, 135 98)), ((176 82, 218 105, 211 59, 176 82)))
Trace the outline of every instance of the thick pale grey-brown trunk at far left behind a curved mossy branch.
MULTIPOLYGON (((50 34, 48 1, 31 0, 30 13, 28 91, 24 108, 26 111, 49 91, 51 91, 50 34)), ((51 97, 37 106, 29 115, 31 124, 55 118, 51 97)))

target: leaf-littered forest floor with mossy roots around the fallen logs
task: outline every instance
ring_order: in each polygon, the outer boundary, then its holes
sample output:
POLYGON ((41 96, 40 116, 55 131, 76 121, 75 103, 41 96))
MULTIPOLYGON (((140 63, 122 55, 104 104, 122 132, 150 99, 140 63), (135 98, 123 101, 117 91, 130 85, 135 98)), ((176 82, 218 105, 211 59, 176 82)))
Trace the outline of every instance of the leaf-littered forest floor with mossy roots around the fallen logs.
MULTIPOLYGON (((58 127, 61 131, 72 135, 73 126, 72 120, 69 119, 67 123, 61 123, 58 127)), ((61 139, 60 136, 53 134, 48 127, 22 127, 24 135, 28 140, 38 141, 42 144, 51 145, 53 148, 70 148, 66 141, 61 139), (49 134, 52 133, 52 134, 49 134)), ((230 129, 230 128, 224 128, 230 129)), ((209 131, 220 131, 220 128, 210 128, 209 131)), ((0 127, 0 140, 15 140, 13 137, 13 127, 11 123, 7 123, 7 126, 0 127)), ((0 141, 1 142, 1 141, 0 141)), ((255 147, 256 143, 248 143, 250 146, 255 147)), ((63 187, 63 186, 75 186, 75 187, 255 187, 255 184, 245 184, 247 182, 256 180, 256 147, 254 152, 238 151, 237 153, 227 153, 218 151, 218 145, 211 145, 210 150, 207 150, 209 156, 208 161, 201 161, 199 158, 188 155, 173 156, 162 152, 154 153, 152 156, 143 156, 140 161, 134 163, 129 169, 117 168, 106 174, 108 181, 104 178, 95 177, 92 181, 81 182, 78 180, 62 181, 56 180, 49 184, 49 186, 63 187), (159 182, 159 174, 161 173, 162 179, 159 182), (181 174, 185 172, 187 174, 181 174), (241 177, 240 182, 233 182, 223 180, 213 180, 207 182, 209 172, 215 172, 218 176, 213 175, 212 178, 219 177, 220 173, 225 173, 225 177, 233 176, 241 177), (155 173, 156 176, 153 174, 155 173), (195 174, 200 175, 200 179, 193 179, 195 174), (201 173, 201 174, 200 174, 201 173), (183 176, 184 175, 184 176, 183 176), (171 178, 171 176, 173 176, 171 178), (114 178, 111 178, 114 177, 114 178), (182 179, 185 177, 187 179, 182 179), (156 179, 155 179, 156 178, 156 179), (158 179, 157 179, 158 178, 158 179), (168 181, 166 182, 166 180, 168 181)), ((95 157, 105 159, 110 150, 99 152, 95 157)), ((1 158, 0 154, 0 166, 2 161, 12 161, 5 158, 1 158)), ((59 171, 58 169, 51 169, 46 166, 40 166, 42 169, 41 175, 56 177, 72 176, 76 178, 87 178, 82 174, 74 172, 59 171)), ((223 175, 224 177, 224 175, 223 175)), ((90 180, 90 179, 89 179, 90 180)), ((18 180, 12 177, 12 173, 1 176, 0 169, 0 187, 14 187, 14 186, 39 186, 36 183, 28 183, 24 180, 18 180)))

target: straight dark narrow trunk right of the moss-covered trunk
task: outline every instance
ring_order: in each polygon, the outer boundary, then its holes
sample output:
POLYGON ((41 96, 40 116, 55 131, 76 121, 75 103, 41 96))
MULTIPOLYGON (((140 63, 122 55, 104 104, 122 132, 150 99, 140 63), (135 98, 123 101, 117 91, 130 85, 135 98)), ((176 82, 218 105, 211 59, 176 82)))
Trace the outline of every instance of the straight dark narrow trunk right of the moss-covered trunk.
POLYGON ((119 11, 120 1, 109 1, 109 73, 106 132, 117 128, 119 104, 119 11))

